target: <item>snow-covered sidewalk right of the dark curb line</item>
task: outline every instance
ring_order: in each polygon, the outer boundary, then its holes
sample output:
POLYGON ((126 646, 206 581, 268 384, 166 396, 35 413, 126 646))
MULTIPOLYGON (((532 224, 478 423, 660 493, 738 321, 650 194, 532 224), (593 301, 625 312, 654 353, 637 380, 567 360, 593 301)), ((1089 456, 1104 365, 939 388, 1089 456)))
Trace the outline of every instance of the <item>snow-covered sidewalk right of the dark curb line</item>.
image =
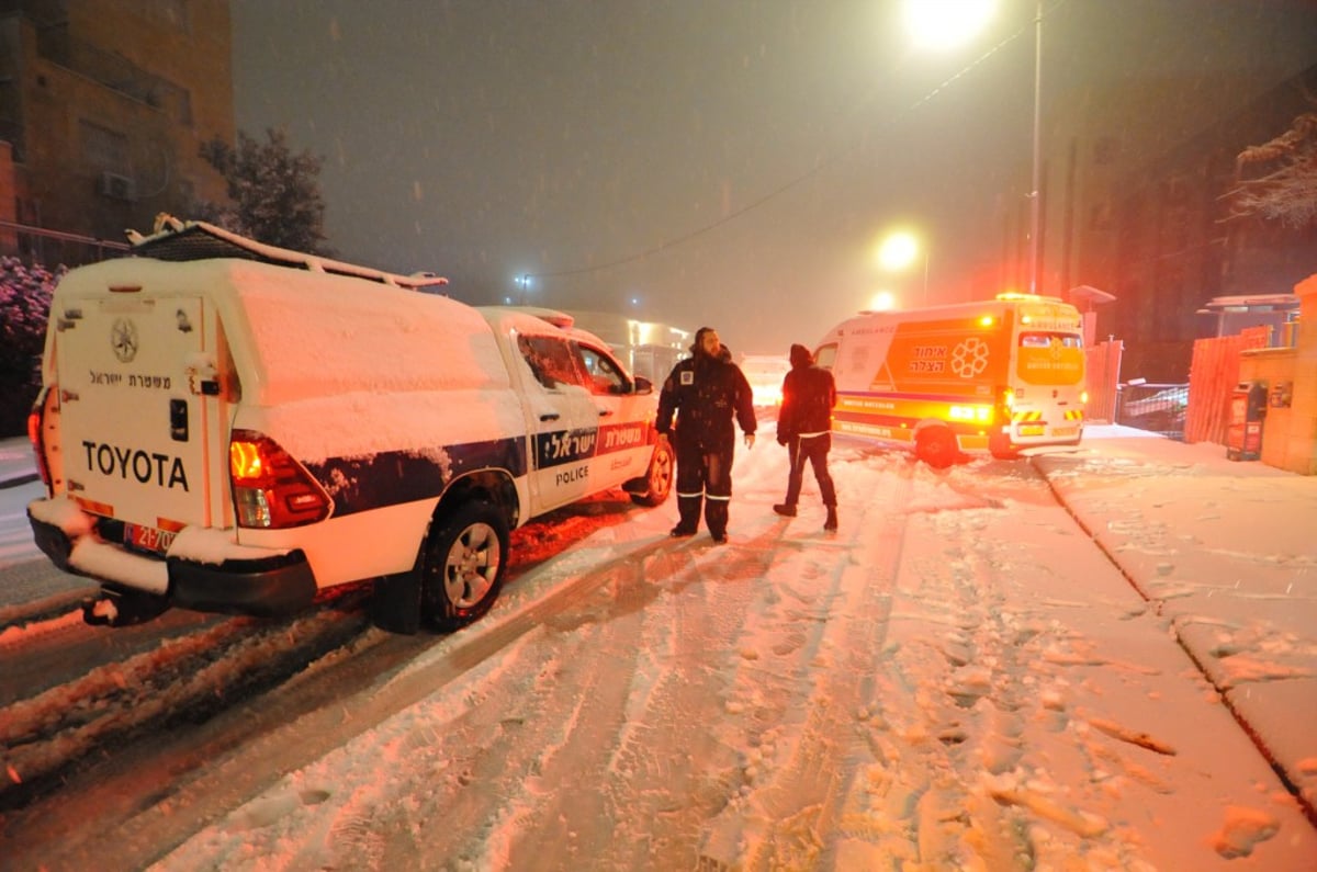
POLYGON ((1090 433, 1033 464, 1317 806, 1317 477, 1090 433))

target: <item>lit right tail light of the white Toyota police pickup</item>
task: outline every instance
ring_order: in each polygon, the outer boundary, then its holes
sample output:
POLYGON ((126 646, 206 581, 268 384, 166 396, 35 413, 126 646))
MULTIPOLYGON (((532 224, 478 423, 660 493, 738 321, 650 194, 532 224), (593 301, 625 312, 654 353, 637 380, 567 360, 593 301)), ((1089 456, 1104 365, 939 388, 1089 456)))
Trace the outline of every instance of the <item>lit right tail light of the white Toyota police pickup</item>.
POLYGON ((229 437, 229 479, 238 527, 302 527, 333 511, 320 482, 277 441, 252 429, 236 429, 229 437))

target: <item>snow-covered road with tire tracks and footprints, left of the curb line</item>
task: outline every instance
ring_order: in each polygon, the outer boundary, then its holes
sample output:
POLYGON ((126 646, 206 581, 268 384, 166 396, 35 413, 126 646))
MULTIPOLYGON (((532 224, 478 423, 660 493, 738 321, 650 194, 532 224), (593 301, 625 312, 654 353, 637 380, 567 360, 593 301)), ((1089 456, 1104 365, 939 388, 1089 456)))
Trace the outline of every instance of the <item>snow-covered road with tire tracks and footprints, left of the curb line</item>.
POLYGON ((772 514, 785 450, 761 440, 735 472, 731 544, 668 540, 670 506, 582 506, 523 536, 477 626, 366 631, 138 776, 9 814, 4 850, 16 868, 1310 868, 1293 798, 1029 464, 838 448, 835 536, 820 506, 772 514))

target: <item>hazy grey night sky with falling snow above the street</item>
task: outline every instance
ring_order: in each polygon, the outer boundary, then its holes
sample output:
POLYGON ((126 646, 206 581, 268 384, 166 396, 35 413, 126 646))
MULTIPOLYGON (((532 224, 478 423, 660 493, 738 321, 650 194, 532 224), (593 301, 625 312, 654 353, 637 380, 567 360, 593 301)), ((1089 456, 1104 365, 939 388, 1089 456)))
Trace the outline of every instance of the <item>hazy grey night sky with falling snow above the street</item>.
MULTIPOLYGON (((1192 133, 1237 108, 1204 83, 1260 94, 1317 62, 1310 0, 1044 8, 1044 130, 1085 84, 1172 79, 1158 125, 1192 133)), ((876 265, 897 223, 928 241, 930 302, 1000 257, 1030 188, 1034 9, 1000 0, 938 53, 896 0, 233 0, 237 124, 324 158, 342 259, 470 303, 531 275, 533 304, 785 354, 881 287, 917 302, 921 270, 876 265)))

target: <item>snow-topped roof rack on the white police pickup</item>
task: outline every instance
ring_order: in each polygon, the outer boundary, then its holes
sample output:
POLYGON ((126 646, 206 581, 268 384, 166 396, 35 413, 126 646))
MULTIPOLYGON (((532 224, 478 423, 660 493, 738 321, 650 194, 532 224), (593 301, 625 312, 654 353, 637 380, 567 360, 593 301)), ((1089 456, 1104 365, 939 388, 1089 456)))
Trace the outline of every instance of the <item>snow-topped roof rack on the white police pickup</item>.
POLYGON ((257 242, 238 236, 207 221, 182 221, 171 215, 157 215, 155 228, 150 236, 128 231, 132 254, 153 257, 159 261, 204 261, 219 257, 232 257, 244 261, 257 261, 275 266, 290 266, 312 273, 352 275, 395 287, 421 288, 448 285, 448 279, 433 273, 414 273, 398 275, 383 270, 357 266, 327 257, 292 252, 257 242))

